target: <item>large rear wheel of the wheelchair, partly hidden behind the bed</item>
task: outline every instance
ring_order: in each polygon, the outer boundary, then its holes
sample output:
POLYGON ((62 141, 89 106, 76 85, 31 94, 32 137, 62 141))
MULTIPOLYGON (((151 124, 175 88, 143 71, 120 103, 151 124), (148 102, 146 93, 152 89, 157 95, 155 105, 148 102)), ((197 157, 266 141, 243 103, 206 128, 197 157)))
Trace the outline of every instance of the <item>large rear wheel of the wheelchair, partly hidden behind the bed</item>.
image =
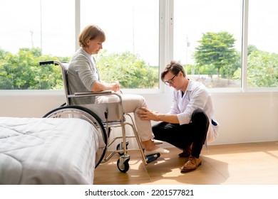
MULTIPOLYGON (((51 112, 48 112, 46 115, 43 117, 47 118, 79 118, 79 119, 84 119, 87 122, 90 122, 93 124, 96 129, 101 132, 103 141, 105 143, 105 149, 103 150, 103 154, 96 163, 96 167, 101 163, 103 160, 103 157, 105 156, 105 152, 107 149, 107 135, 105 132, 105 129, 103 127, 103 124, 101 123, 101 119, 90 109, 86 109, 84 107, 79 107, 79 106, 66 106, 66 107, 58 107, 56 109, 51 110, 51 112)), ((96 168, 95 167, 95 168, 96 168)))

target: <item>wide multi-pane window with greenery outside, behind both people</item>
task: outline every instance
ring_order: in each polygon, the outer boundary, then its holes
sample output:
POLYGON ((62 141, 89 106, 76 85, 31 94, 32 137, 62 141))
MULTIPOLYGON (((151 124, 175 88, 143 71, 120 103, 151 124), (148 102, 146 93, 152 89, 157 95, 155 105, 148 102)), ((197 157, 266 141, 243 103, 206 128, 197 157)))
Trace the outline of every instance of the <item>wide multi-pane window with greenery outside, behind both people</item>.
POLYGON ((3 0, 0 90, 62 89, 59 68, 41 67, 38 62, 70 60, 76 50, 76 30, 89 24, 106 33, 96 57, 101 79, 119 80, 123 88, 157 89, 159 68, 164 67, 159 60, 169 58, 180 62, 190 79, 207 87, 278 87, 277 2, 3 0), (80 7, 75 7, 79 1, 80 7), (244 2, 249 5, 247 13, 244 2), (80 17, 75 16, 77 9, 80 17), (242 25, 242 16, 248 17, 248 26, 242 25), (242 32, 247 27, 245 38, 242 32), (242 38, 247 41, 246 58, 242 58, 242 38))

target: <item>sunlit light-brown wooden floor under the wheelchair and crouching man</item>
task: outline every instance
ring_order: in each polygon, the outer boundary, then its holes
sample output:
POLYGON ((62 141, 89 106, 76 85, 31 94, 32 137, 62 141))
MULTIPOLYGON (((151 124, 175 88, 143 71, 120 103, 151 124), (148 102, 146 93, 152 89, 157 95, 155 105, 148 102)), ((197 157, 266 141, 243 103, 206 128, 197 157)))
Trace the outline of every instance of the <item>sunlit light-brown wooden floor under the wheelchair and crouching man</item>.
POLYGON ((139 151, 130 151, 127 173, 118 170, 116 154, 96 168, 94 184, 278 184, 278 141, 209 146, 208 153, 204 147, 202 165, 190 173, 180 173, 180 150, 169 150, 147 166, 139 151))

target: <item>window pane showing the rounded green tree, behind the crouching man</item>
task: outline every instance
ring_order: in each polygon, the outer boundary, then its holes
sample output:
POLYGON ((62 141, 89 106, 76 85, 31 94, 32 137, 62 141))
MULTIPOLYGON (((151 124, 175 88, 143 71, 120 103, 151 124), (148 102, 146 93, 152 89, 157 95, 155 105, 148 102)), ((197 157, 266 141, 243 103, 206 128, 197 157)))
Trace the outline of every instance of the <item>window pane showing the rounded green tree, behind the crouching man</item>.
POLYGON ((175 0, 174 59, 207 87, 240 87, 242 0, 175 0))

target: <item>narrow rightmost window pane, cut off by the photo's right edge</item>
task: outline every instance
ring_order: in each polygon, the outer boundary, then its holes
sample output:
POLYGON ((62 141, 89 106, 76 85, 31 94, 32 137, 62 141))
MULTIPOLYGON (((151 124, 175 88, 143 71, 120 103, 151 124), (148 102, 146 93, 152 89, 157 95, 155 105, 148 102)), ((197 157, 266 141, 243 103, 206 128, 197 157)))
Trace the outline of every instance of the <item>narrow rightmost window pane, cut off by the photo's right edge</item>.
POLYGON ((278 1, 249 1, 248 87, 278 87, 278 1))

